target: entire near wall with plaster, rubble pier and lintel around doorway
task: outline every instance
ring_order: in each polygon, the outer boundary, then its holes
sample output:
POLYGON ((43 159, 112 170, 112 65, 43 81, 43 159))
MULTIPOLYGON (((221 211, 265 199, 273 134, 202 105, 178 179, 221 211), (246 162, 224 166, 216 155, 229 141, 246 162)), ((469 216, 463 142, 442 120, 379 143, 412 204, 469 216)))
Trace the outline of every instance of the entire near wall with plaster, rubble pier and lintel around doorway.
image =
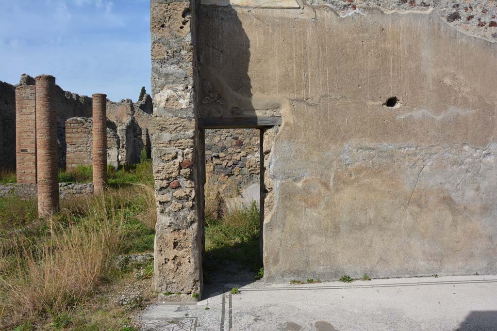
POLYGON ((259 131, 265 279, 495 273, 496 15, 152 0, 158 291, 201 294, 206 135, 222 128, 259 131))

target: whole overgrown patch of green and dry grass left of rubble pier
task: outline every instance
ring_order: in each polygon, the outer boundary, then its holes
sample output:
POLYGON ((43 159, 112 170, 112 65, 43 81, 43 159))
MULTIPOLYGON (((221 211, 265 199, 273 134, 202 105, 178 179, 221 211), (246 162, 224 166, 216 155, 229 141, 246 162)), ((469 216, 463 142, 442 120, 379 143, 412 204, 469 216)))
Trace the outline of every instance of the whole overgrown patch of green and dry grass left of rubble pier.
POLYGON ((119 278, 118 254, 153 247, 156 205, 147 185, 77 197, 61 207, 48 221, 0 235, 0 330, 81 310, 103 283, 119 278))

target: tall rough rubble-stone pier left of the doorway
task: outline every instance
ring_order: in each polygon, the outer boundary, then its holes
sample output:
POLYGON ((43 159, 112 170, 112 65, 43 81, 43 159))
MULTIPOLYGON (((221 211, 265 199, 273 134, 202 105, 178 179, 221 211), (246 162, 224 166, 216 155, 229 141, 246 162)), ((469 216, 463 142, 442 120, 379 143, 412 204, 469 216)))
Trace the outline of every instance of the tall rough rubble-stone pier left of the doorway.
POLYGON ((151 2, 152 159, 157 199, 155 282, 160 300, 196 301, 202 291, 203 135, 195 111, 195 1, 151 2), (190 15, 191 14, 191 15, 190 15), (181 22, 180 28, 178 23, 181 22), (178 51, 181 50, 181 51, 178 51), (180 293, 180 294, 176 294, 180 293))

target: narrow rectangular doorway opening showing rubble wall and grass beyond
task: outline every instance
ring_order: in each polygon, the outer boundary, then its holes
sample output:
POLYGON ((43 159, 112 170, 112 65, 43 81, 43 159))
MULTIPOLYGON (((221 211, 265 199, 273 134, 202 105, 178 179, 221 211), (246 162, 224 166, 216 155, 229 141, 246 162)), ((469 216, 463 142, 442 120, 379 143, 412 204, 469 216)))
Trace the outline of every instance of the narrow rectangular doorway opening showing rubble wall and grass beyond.
POLYGON ((203 277, 207 295, 227 283, 243 286, 262 277, 262 132, 204 131, 203 277))

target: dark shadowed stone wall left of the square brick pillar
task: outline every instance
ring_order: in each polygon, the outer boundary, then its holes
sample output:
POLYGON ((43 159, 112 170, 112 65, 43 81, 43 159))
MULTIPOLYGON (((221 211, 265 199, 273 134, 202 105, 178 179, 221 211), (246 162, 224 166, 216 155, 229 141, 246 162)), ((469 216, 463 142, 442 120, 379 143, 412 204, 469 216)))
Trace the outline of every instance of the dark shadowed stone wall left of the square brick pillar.
POLYGON ((15 87, 0 81, 0 170, 15 169, 15 87))

